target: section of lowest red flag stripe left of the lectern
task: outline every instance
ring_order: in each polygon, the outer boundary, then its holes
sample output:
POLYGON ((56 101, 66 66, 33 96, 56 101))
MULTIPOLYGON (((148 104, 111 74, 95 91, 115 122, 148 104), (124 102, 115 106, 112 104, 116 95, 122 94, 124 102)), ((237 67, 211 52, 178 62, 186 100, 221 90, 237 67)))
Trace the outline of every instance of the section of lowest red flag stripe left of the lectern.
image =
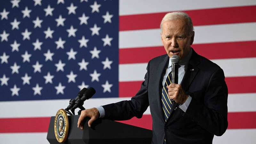
POLYGON ((50 117, 0 118, 0 133, 47 132, 50 117))

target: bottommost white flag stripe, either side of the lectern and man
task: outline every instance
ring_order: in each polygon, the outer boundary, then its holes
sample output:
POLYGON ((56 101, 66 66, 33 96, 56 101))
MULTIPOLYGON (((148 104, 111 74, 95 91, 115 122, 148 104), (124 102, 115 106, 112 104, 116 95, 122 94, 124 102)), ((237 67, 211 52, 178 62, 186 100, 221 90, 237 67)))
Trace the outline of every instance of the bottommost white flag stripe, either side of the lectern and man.
MULTIPOLYGON (((214 136, 213 144, 255 144, 256 129, 228 129, 222 136, 214 136)), ((38 133, 0 133, 3 144, 49 144, 46 132, 38 133)))

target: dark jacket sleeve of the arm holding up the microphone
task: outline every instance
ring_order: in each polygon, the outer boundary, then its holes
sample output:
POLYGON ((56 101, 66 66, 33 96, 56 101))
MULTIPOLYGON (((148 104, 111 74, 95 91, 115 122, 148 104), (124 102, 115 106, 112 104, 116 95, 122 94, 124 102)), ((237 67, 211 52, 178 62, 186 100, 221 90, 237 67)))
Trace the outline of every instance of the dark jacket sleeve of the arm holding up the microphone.
POLYGON ((208 83, 203 102, 194 98, 202 92, 188 92, 192 100, 186 114, 198 125, 216 136, 221 136, 228 127, 228 88, 222 69, 215 71, 208 83))

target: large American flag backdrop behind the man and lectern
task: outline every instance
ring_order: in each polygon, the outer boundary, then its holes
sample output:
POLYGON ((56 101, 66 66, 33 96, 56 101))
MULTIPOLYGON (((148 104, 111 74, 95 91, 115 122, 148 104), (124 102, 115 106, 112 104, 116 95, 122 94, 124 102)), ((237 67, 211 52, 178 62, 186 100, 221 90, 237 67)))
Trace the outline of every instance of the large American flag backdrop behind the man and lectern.
MULTIPOLYGON (((83 87, 96 90, 85 108, 129 100, 165 54, 159 25, 172 11, 190 15, 192 47, 226 76, 228 130, 213 143, 256 143, 255 0, 1 1, 0 143, 48 143, 50 116, 83 87)), ((149 108, 122 122, 152 129, 149 108)))

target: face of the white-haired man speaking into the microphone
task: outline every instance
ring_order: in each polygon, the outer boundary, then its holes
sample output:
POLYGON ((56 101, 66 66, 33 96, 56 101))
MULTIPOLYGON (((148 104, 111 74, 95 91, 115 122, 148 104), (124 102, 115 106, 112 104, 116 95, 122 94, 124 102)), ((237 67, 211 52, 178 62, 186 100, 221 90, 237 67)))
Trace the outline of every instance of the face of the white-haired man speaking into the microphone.
POLYGON ((162 43, 168 56, 178 55, 182 60, 190 51, 190 45, 194 41, 188 34, 188 28, 184 20, 164 21, 161 33, 162 43))

